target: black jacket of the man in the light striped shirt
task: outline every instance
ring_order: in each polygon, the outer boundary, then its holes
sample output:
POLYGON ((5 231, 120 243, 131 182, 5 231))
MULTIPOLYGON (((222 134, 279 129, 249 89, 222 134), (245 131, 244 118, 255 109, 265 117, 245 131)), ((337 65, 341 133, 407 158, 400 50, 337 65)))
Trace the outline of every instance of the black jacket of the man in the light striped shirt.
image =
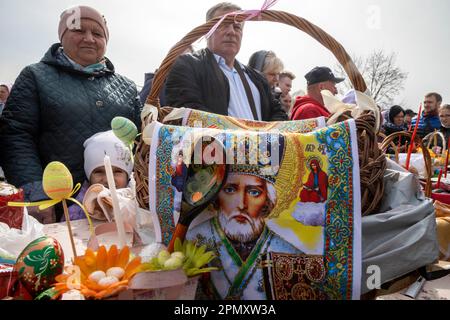
MULTIPOLYGON (((248 67, 245 67, 245 72, 260 93, 262 120, 287 120, 280 101, 273 97, 264 76, 248 67)), ((167 79, 166 99, 171 107, 228 115, 230 85, 209 49, 177 59, 167 79)))

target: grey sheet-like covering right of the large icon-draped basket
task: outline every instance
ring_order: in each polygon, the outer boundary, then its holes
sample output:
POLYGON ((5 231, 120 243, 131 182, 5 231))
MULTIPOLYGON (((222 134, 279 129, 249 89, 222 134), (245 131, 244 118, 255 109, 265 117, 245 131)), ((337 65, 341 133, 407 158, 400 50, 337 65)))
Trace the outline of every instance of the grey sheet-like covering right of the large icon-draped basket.
MULTIPOLYGON (((433 202, 424 197, 417 177, 387 161, 380 212, 362 218, 361 292, 373 288, 370 268, 380 268, 380 284, 397 279, 439 256, 433 202)), ((373 269, 372 269, 373 270, 373 269)))

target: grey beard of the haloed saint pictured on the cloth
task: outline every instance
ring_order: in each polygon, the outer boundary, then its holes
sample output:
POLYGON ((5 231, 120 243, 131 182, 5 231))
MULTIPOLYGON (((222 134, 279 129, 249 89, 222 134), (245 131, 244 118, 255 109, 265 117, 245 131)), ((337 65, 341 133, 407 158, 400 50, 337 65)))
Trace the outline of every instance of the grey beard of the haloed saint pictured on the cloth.
POLYGON ((252 218, 246 213, 233 213, 227 217, 219 212, 219 223, 228 239, 238 242, 250 242, 257 239, 265 226, 264 218, 252 218), (239 223, 234 218, 244 216, 246 221, 239 223))

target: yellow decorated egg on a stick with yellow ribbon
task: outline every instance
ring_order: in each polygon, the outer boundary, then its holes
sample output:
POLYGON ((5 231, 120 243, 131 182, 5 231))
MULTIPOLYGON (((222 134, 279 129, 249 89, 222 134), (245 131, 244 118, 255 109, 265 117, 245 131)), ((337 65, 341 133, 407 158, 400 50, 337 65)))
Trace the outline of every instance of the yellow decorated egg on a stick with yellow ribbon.
POLYGON ((65 199, 73 189, 72 175, 61 162, 50 162, 44 170, 42 185, 50 199, 65 199))

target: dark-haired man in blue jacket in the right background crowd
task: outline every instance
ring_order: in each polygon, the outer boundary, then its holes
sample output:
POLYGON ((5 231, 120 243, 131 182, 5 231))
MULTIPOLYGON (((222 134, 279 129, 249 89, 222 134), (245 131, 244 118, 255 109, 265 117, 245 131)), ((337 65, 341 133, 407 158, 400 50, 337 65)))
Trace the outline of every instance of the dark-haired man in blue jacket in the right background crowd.
MULTIPOLYGON (((423 102, 423 111, 420 115, 419 125, 417 127, 417 135, 424 138, 427 134, 439 130, 441 121, 439 119, 439 107, 442 103, 442 96, 439 93, 431 92, 425 95, 423 102)), ((411 128, 414 129, 417 117, 411 120, 411 128)))

